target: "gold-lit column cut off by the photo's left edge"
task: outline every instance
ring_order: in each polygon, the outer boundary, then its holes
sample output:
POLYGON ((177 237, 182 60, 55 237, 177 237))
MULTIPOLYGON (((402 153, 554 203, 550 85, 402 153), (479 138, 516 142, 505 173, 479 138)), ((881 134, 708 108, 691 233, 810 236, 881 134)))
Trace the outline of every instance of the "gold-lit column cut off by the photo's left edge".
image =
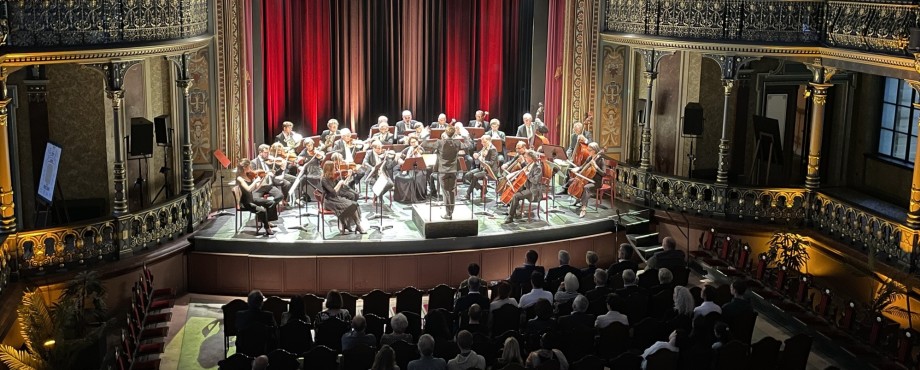
POLYGON ((13 163, 7 120, 10 98, 6 95, 6 68, 0 68, 0 234, 16 232, 16 204, 13 201, 13 163))

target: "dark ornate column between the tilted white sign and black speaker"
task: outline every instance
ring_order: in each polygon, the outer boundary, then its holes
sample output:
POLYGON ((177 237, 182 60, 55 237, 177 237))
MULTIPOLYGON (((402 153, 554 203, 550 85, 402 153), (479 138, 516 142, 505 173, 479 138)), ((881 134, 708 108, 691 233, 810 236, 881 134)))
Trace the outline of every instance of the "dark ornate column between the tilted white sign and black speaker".
POLYGON ((112 215, 115 217, 128 213, 128 180, 125 168, 125 128, 122 119, 122 104, 125 99, 125 74, 140 61, 111 61, 108 63, 90 64, 89 67, 102 72, 105 76, 105 95, 112 100, 112 116, 115 127, 112 135, 115 136, 115 163, 113 175, 115 181, 115 196, 112 206, 112 215))

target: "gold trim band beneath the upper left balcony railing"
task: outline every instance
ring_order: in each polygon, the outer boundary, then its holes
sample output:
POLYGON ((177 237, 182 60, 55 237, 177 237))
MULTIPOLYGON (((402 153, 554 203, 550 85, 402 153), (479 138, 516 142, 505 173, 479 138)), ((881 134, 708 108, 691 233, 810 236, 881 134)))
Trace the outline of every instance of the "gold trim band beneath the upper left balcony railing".
POLYGON ((27 66, 33 64, 98 63, 110 59, 150 57, 179 54, 207 46, 213 36, 199 36, 190 39, 163 42, 144 46, 126 46, 91 50, 36 51, 9 53, 0 56, 0 65, 27 66))

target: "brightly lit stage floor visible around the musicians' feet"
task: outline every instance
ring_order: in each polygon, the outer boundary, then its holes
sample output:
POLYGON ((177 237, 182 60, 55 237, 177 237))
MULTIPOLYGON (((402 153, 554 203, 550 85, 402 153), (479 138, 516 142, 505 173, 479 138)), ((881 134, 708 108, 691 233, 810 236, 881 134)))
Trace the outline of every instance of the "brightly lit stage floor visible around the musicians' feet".
MULTIPOLYGON (((474 194, 478 195, 478 192, 474 194)), ((541 203, 539 214, 537 214, 538 210, 536 203, 534 203, 533 213, 531 215, 532 218, 528 221, 526 216, 527 202, 525 202, 524 218, 515 219, 515 222, 512 224, 503 224, 508 213, 508 208, 501 205, 496 206, 494 191, 488 194, 485 204, 483 204, 481 198, 475 197, 472 204, 469 202, 458 204, 458 209, 455 211, 454 215, 454 221, 459 220, 460 217, 465 217, 466 220, 475 219, 479 225, 479 235, 475 237, 445 239, 480 239, 479 242, 468 241, 466 243, 461 243, 466 246, 474 247, 495 243, 496 240, 493 238, 502 238, 511 234, 514 234, 516 239, 521 239, 523 234, 529 234, 529 237, 525 238, 526 240, 518 240, 519 242, 539 242, 591 235, 606 231, 613 232, 616 230, 615 219, 617 210, 624 214, 624 222, 627 218, 625 214, 641 210, 636 206, 619 201, 614 203, 614 208, 610 208, 609 198, 605 198, 597 210, 595 210, 594 198, 591 198, 587 214, 584 218, 579 218, 577 214, 578 208, 571 206, 574 200, 571 196, 559 195, 554 196, 554 198, 555 208, 553 208, 552 197, 549 201, 551 210, 548 220, 545 219, 545 214, 542 209, 542 206, 545 206, 546 203, 541 203), (463 208, 472 209, 472 213, 468 210, 464 212, 461 210, 463 208), (483 237, 493 240, 491 242, 486 242, 482 240, 483 237)), ((317 230, 318 219, 316 217, 316 203, 313 202, 308 203, 305 208, 301 207, 299 210, 297 208, 284 210, 279 215, 279 220, 274 222, 276 225, 273 229, 275 235, 270 237, 266 237, 264 231, 259 236, 255 234, 255 219, 250 216, 249 212, 240 213, 243 225, 237 231, 234 225, 233 209, 228 209, 226 211, 231 215, 212 217, 212 219, 206 222, 203 228, 197 232, 193 238, 195 241, 195 250, 207 252, 302 254, 305 251, 285 251, 283 249, 279 250, 277 247, 281 245, 305 246, 319 244, 377 244, 379 246, 381 244, 398 243, 405 245, 405 242, 413 241, 428 242, 425 244, 431 246, 432 244, 430 242, 445 240, 425 239, 412 220, 412 204, 393 202, 392 205, 390 205, 389 201, 387 201, 383 210, 383 214, 386 215, 387 218, 381 220, 369 218, 376 211, 369 200, 361 200, 358 203, 361 207, 362 225, 367 232, 366 234, 339 233, 336 218, 334 216, 327 216, 324 225, 324 239, 322 232, 317 230), (381 225, 383 226, 382 230, 380 229, 381 225), (264 249, 255 250, 254 246, 256 245, 265 247, 275 246, 275 248, 270 248, 273 252, 268 252, 264 249)), ((458 203, 460 203, 460 200, 458 200, 458 203)), ((428 203, 426 202, 424 204, 427 206, 428 203)), ((439 220, 443 206, 438 201, 432 201, 431 204, 431 216, 433 219, 439 220)), ((427 207, 419 208, 427 209, 427 207)), ((503 241, 503 243, 510 242, 509 240, 503 241)), ((457 243, 452 243, 452 245, 457 246, 457 243)), ((336 248, 336 250, 341 249, 336 248)), ((317 252, 317 254, 325 253, 317 252)))

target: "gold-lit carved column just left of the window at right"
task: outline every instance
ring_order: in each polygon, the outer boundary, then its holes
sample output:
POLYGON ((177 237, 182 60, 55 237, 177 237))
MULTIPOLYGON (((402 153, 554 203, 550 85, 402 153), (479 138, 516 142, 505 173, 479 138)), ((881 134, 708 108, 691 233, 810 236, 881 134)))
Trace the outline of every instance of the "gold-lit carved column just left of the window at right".
POLYGON ((808 133, 808 172, 805 174, 805 188, 816 190, 821 186, 821 177, 818 174, 821 164, 821 143, 824 138, 824 104, 827 101, 827 89, 832 84, 827 83, 837 73, 831 67, 825 67, 821 60, 814 64, 806 65, 812 72, 811 82, 811 131, 808 133))

